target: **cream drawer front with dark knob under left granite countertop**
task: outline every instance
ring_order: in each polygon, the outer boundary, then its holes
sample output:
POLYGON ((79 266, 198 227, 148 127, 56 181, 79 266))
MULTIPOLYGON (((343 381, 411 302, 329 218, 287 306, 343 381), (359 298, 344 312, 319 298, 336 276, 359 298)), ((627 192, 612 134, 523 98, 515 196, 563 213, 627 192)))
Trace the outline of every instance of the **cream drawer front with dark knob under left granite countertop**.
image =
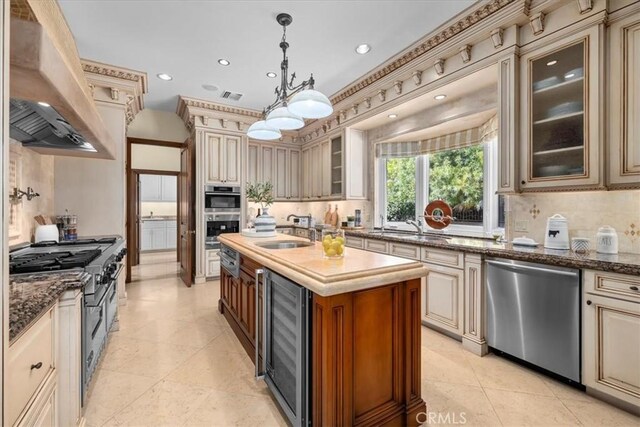
POLYGON ((13 425, 55 369, 55 307, 42 316, 8 351, 7 420, 13 425))

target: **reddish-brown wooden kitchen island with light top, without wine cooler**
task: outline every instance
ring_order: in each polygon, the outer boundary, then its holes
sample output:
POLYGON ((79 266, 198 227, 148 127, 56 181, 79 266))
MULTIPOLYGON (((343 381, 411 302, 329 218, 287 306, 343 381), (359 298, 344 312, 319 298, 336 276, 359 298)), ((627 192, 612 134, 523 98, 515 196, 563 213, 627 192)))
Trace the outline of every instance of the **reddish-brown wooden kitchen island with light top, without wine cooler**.
POLYGON ((237 274, 221 268, 219 309, 252 359, 255 337, 262 350, 264 336, 259 321, 264 279, 256 281, 256 270, 267 269, 311 291, 312 425, 419 424, 416 417, 426 411, 420 390, 420 284, 428 270, 422 263, 358 249, 329 260, 320 243, 258 246, 304 242, 291 236, 223 234, 219 240, 240 254, 237 274))

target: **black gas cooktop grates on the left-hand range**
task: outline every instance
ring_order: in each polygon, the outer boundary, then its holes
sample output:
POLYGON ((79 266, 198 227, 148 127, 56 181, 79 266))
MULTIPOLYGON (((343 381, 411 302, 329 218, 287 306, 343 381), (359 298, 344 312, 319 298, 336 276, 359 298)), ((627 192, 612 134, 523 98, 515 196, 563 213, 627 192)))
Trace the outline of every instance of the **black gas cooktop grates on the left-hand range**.
POLYGON ((102 250, 57 251, 52 253, 27 253, 9 258, 9 273, 34 273, 40 271, 84 268, 98 258, 102 250))

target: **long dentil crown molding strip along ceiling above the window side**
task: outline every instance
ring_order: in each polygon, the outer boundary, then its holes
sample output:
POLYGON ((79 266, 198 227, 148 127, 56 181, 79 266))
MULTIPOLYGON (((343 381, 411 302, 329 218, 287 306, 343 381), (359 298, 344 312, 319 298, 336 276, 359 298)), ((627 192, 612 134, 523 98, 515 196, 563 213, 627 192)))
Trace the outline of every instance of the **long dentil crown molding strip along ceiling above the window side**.
POLYGON ((377 82, 383 77, 391 74, 393 71, 413 62, 414 60, 421 57, 425 53, 434 49, 436 46, 441 45, 442 43, 456 36, 460 32, 466 30, 467 28, 471 27, 477 22, 480 22, 481 20, 496 13, 503 7, 515 1, 517 0, 491 0, 490 2, 480 6, 478 9, 472 11, 467 16, 461 18, 454 24, 443 29, 437 34, 430 36, 428 39, 424 40, 422 43, 420 43, 420 45, 416 46, 411 51, 406 52, 405 54, 396 58, 393 62, 385 65, 379 70, 374 71, 373 73, 369 74, 367 77, 365 77, 358 83, 352 85, 351 87, 342 91, 338 95, 335 95, 334 97, 331 98, 331 103, 335 105, 338 102, 365 89, 366 87, 372 85, 373 83, 377 82))

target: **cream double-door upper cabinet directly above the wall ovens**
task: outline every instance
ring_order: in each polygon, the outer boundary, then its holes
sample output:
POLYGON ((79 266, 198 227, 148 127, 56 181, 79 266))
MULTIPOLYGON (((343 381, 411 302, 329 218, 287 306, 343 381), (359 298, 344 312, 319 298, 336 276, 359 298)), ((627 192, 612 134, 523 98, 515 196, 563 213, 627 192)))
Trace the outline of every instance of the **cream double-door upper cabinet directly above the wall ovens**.
POLYGON ((212 132, 204 134, 206 184, 241 184, 242 138, 212 132))

